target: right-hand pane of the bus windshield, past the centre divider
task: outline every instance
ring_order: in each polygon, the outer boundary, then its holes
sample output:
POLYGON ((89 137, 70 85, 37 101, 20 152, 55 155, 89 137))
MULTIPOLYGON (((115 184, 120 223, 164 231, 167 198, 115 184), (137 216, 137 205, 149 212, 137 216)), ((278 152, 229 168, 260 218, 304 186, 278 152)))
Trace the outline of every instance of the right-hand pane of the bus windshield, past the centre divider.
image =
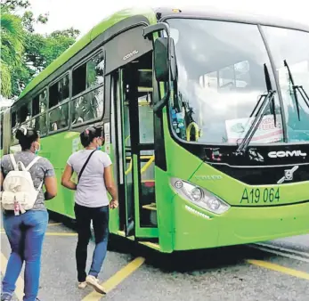
POLYGON ((279 77, 289 142, 309 142, 309 33, 273 27, 263 30, 279 77), (293 89, 288 68, 294 88, 302 88, 293 89))

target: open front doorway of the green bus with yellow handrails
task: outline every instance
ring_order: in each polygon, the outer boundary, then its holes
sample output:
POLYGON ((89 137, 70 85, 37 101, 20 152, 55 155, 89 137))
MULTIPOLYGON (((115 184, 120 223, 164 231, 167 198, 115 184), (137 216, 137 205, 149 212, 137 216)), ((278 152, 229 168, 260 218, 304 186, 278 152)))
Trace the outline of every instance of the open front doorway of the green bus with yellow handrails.
POLYGON ((152 53, 114 78, 120 229, 126 236, 157 238, 152 53))

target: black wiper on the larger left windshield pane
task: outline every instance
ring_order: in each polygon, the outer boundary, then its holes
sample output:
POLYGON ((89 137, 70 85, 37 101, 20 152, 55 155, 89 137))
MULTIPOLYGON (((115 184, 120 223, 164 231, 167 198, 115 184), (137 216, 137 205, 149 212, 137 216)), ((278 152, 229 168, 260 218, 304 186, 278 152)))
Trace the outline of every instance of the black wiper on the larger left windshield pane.
POLYGON ((250 118, 252 118, 255 115, 255 119, 253 120, 253 123, 249 127, 247 134, 245 135, 242 142, 240 143, 239 148, 236 150, 236 152, 238 153, 243 152, 244 150, 247 149, 248 144, 251 142, 253 136, 256 134, 256 130, 258 126, 260 126, 262 119, 264 118, 264 114, 266 110, 268 109, 269 104, 271 102, 272 102, 271 110, 272 110, 273 119, 274 119, 274 126, 276 126, 276 111, 275 111, 275 101, 274 101, 274 94, 276 93, 276 91, 272 90, 272 82, 271 82, 271 78, 269 76, 269 72, 268 72, 266 64, 264 64, 264 75, 265 75, 265 81, 266 81, 268 93, 261 95, 259 100, 256 102, 256 106, 250 115, 250 118), (262 104, 259 106, 260 102, 262 102, 262 104))

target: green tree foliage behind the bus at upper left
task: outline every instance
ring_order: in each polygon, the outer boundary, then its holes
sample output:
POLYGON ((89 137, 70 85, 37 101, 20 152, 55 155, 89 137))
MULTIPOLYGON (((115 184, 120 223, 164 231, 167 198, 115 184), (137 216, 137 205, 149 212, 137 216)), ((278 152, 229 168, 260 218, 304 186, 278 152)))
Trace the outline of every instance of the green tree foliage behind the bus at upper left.
POLYGON ((45 24, 48 13, 36 17, 28 0, 2 1, 1 11, 1 94, 17 97, 33 77, 74 44, 80 32, 68 28, 49 35, 36 33, 35 25, 45 24))

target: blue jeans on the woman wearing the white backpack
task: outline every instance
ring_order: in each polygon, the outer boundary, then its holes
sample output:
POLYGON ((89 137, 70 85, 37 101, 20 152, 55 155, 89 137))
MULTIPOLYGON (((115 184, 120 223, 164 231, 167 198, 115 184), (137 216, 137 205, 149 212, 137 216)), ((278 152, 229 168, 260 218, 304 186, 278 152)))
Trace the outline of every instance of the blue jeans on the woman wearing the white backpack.
POLYGON ((2 284, 3 297, 12 296, 22 264, 25 261, 25 296, 23 300, 35 301, 38 293, 41 254, 48 224, 48 212, 46 210, 29 210, 20 216, 6 212, 3 216, 4 230, 12 248, 2 284))

